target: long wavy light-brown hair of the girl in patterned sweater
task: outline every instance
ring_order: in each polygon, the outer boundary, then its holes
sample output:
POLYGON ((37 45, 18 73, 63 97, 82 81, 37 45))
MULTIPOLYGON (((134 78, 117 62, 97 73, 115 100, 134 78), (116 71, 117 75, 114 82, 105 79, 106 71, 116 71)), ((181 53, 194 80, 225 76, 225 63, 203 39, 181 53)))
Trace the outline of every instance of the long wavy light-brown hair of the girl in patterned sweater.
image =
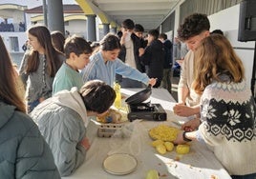
POLYGON ((239 83, 245 78, 243 62, 229 41, 220 34, 204 38, 195 51, 195 80, 192 88, 202 93, 213 80, 222 82, 220 74, 227 74, 230 82, 239 83))

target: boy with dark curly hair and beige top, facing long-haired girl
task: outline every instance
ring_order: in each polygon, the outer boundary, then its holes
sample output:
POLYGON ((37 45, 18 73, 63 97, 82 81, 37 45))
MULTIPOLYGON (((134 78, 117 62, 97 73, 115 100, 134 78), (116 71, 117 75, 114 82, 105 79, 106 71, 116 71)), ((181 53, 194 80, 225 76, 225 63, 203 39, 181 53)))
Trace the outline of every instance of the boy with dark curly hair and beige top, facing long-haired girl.
MULTIPOLYGON (((200 99, 193 89, 191 89, 194 80, 194 51, 199 46, 201 40, 210 35, 210 23, 205 14, 193 13, 187 16, 178 30, 178 38, 184 42, 189 49, 184 57, 181 70, 181 78, 178 86, 178 104, 174 107, 174 112, 180 116, 198 115, 200 112, 200 99)), ((197 116, 198 117, 198 116, 197 116)), ((199 123, 198 118, 195 119, 199 123)), ((192 120, 193 124, 194 120, 192 120)), ((199 124, 184 125, 183 129, 196 129, 199 124)))

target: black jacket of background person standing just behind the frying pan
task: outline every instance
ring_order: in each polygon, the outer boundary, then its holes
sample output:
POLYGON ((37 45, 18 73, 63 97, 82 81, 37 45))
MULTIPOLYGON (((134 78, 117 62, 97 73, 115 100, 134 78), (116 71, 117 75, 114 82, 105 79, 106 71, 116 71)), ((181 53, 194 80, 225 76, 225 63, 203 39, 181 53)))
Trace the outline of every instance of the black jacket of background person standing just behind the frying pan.
POLYGON ((146 47, 144 54, 140 57, 142 63, 148 66, 146 71, 149 78, 158 78, 157 84, 154 87, 160 86, 163 72, 164 50, 160 40, 154 40, 146 47))

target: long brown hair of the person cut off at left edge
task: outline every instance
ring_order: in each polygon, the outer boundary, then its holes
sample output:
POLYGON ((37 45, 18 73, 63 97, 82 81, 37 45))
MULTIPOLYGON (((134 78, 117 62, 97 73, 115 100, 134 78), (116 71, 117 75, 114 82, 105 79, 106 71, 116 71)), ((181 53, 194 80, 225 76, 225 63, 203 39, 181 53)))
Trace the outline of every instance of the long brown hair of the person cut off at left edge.
POLYGON ((8 50, 0 36, 0 101, 26 112, 25 104, 15 89, 15 73, 8 50))

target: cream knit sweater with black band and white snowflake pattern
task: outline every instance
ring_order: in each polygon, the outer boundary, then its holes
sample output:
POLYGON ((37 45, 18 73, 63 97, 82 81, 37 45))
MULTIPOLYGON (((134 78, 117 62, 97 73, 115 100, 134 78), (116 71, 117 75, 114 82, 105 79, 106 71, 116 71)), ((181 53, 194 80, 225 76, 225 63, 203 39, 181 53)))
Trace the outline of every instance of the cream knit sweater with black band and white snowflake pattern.
POLYGON ((256 108, 242 83, 214 82, 203 91, 201 137, 229 174, 256 173, 256 108))

